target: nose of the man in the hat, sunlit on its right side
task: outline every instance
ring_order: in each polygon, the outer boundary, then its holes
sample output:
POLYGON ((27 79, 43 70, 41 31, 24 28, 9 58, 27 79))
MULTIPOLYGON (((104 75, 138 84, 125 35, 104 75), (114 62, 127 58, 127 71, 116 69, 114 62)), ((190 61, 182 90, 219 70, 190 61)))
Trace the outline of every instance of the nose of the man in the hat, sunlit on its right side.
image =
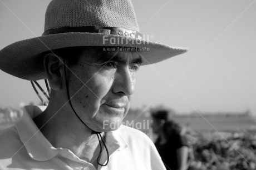
POLYGON ((135 90, 135 83, 135 72, 131 72, 128 68, 122 69, 115 74, 113 92, 131 96, 135 90))

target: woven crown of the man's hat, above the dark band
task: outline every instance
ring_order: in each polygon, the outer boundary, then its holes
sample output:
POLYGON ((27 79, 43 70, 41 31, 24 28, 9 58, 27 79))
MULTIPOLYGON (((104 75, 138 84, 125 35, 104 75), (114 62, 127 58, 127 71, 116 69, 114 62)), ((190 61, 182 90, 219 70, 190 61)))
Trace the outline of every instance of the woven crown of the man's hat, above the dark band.
POLYGON ((139 31, 130 0, 53 0, 48 5, 45 31, 85 26, 120 27, 139 31))

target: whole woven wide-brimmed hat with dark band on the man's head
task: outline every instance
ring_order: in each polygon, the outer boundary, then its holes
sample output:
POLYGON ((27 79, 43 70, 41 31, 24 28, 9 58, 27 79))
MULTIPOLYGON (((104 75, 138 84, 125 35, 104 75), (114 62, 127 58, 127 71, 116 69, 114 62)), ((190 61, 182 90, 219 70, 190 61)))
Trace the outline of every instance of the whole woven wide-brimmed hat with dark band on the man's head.
POLYGON ((53 0, 46 11, 42 36, 3 48, 0 69, 22 79, 44 79, 40 54, 75 46, 143 48, 146 50, 139 52, 144 65, 186 52, 185 48, 145 40, 130 0, 53 0))

